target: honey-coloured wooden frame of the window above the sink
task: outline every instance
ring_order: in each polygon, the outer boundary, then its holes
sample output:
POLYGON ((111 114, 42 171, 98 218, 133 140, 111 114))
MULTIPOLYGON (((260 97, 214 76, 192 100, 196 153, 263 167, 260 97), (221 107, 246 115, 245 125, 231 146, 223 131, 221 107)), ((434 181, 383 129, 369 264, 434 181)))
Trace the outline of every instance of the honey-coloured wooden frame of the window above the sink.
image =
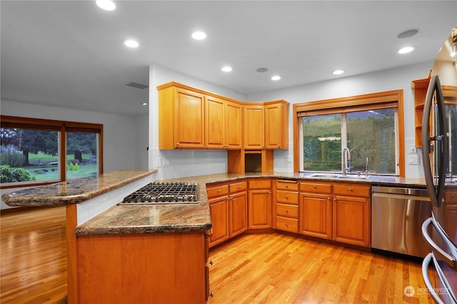
POLYGON ((405 177, 405 127, 403 115, 403 90, 391 90, 378 93, 355 95, 345 98, 332 98, 327 100, 315 100, 308 103, 293 104, 293 172, 300 171, 300 149, 303 146, 303 134, 300 128, 300 120, 305 112, 313 113, 342 113, 352 112, 359 109, 369 109, 395 105, 398 120, 398 176, 405 177))

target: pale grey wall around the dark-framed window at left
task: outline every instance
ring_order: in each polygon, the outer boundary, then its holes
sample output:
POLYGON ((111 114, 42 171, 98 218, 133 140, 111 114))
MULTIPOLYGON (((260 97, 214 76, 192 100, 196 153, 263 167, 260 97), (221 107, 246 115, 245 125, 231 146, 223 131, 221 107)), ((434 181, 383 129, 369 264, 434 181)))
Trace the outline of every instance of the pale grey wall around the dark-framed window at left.
MULTIPOLYGON (((120 169, 147 169, 148 115, 136 117, 111 115, 101 112, 56 108, 1 100, 1 115, 33 117, 49 120, 89 122, 104 125, 104 172, 120 169)), ((8 189, 2 189, 6 193, 8 189)), ((17 189, 14 189, 17 190, 17 189)), ((1 209, 8 208, 1 202, 1 209)))

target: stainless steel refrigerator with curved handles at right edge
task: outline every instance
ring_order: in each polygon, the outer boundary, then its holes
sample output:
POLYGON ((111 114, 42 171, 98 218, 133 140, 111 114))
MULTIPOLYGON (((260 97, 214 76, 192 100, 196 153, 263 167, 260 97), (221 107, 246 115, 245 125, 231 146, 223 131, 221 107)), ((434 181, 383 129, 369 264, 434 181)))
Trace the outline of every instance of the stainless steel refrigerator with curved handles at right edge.
POLYGON ((431 71, 422 120, 423 169, 431 217, 422 225, 430 245, 423 259, 426 289, 436 303, 457 303, 457 28, 431 71))

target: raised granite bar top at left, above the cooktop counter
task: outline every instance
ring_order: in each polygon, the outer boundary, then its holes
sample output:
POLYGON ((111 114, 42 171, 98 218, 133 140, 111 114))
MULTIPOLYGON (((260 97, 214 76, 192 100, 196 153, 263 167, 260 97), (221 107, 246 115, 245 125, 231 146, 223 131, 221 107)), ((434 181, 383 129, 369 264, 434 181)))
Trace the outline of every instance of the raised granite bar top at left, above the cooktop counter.
POLYGON ((63 206, 79 204, 95 196, 156 173, 156 169, 128 169, 99 174, 94 177, 70 179, 7 193, 1 199, 9 206, 63 206))

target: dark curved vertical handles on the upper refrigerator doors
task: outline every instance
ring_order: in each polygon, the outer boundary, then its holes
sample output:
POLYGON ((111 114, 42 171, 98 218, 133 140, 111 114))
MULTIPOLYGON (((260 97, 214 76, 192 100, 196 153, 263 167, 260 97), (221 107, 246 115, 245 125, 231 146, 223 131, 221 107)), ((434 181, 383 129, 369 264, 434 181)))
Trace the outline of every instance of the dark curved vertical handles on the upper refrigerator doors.
POLYGON ((443 202, 444 183, 446 181, 446 162, 448 155, 448 137, 446 136, 446 112, 444 110, 443 90, 441 90, 441 83, 438 75, 432 76, 426 94, 425 105, 423 107, 422 117, 422 157, 423 157, 423 171, 426 179, 428 193, 431 198, 433 206, 439 207, 443 202), (430 136, 430 114, 433 107, 433 94, 436 95, 436 103, 438 108, 438 131, 441 135, 430 136), (430 164, 430 152, 433 148, 430 143, 432 141, 441 142, 441 149, 435 149, 438 153, 438 184, 434 184, 433 172, 430 164))

